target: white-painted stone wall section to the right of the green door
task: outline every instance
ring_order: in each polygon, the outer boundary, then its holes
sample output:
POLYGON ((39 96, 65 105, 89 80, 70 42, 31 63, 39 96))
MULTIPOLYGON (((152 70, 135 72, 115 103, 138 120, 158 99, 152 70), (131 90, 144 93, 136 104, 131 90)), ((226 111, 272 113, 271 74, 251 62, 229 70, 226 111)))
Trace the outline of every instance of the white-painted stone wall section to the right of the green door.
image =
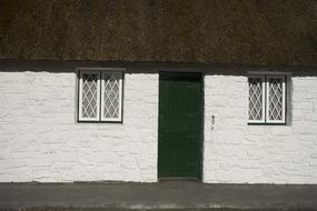
POLYGON ((317 77, 289 91, 287 125, 248 125, 247 77, 205 77, 205 182, 317 183, 317 77))

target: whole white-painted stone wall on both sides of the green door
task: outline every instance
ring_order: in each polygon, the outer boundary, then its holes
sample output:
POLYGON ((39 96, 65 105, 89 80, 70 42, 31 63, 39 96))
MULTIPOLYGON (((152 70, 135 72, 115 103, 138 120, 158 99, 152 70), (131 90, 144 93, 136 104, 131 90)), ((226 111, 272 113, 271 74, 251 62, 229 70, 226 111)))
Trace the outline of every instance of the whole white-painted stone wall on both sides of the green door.
MULTIPOLYGON (((158 80, 125 74, 122 124, 78 123, 76 72, 1 70, 0 182, 156 182, 158 80)), ((248 125, 247 76, 205 76, 204 182, 317 183, 317 77, 289 91, 287 125, 248 125)))

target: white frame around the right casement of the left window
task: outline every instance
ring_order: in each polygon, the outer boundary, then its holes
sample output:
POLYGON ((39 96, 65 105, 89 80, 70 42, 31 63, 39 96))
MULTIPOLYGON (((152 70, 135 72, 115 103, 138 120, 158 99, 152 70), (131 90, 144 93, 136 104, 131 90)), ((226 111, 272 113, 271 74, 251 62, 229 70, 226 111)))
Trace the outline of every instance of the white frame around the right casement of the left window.
POLYGON ((101 73, 101 121, 109 121, 109 122, 120 122, 122 121, 122 79, 123 79, 123 72, 118 72, 118 71, 102 71, 101 73), (106 83, 106 76, 109 74, 115 74, 119 76, 119 117, 118 118, 105 118, 103 113, 103 107, 105 107, 105 101, 103 101, 103 94, 105 94, 105 83, 106 83))

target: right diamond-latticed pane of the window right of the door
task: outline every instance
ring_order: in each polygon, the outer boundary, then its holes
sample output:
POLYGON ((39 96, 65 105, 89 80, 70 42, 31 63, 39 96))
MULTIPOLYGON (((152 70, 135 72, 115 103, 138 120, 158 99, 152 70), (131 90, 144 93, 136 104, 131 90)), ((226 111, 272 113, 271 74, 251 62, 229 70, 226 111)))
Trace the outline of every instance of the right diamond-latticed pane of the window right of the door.
POLYGON ((269 120, 283 120, 283 81, 269 79, 268 117, 269 120))

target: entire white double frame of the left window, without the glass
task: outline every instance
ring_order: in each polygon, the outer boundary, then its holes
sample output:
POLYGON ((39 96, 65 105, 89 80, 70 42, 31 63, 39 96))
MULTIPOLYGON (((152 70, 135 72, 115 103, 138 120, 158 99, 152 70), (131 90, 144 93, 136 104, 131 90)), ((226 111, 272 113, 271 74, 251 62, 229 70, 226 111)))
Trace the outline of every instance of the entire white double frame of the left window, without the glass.
POLYGON ((122 122, 123 110, 123 69, 120 68, 77 68, 79 71, 78 83, 78 122, 122 122), (83 118, 82 117, 82 76, 87 73, 98 74, 98 92, 97 92, 97 117, 83 118), (119 78, 119 117, 118 118, 103 118, 103 93, 105 93, 105 77, 108 74, 120 76, 119 78))

